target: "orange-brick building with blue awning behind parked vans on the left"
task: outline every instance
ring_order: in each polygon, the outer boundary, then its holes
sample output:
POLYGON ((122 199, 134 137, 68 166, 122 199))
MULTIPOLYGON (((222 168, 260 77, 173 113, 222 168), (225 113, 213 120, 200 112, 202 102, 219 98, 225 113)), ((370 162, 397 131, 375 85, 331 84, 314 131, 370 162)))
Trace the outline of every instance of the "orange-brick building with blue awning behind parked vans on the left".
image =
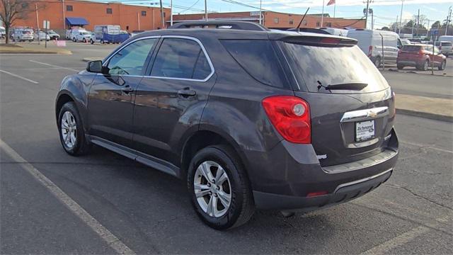
MULTIPOLYGON (((162 28, 160 8, 132 6, 120 3, 95 3, 75 0, 30 1, 30 13, 14 26, 42 27, 42 21, 50 21, 50 28, 62 33, 69 28, 67 18, 85 19, 84 28, 93 30, 96 25, 120 25, 122 30, 154 30, 162 28), (38 11, 35 11, 35 3, 38 11), (38 15, 37 15, 38 13, 38 15)), ((170 9, 164 8, 165 20, 170 19, 170 9)))

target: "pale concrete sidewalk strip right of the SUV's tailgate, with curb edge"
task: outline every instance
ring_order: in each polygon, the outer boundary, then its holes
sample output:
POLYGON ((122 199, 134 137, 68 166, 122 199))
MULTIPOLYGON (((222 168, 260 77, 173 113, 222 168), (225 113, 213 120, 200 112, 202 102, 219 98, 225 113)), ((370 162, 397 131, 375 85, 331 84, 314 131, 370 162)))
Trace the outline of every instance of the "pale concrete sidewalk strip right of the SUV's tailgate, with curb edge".
POLYGON ((396 94, 396 113, 453 122, 453 100, 396 94))

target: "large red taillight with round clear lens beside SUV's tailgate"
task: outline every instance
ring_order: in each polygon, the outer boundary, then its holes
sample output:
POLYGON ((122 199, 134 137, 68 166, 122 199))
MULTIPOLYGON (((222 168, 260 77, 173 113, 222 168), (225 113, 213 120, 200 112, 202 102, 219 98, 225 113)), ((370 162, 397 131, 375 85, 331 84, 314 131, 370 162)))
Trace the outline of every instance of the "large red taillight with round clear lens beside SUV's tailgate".
POLYGON ((270 122, 285 140, 311 143, 310 108, 306 101, 296 96, 271 96, 262 103, 270 122))

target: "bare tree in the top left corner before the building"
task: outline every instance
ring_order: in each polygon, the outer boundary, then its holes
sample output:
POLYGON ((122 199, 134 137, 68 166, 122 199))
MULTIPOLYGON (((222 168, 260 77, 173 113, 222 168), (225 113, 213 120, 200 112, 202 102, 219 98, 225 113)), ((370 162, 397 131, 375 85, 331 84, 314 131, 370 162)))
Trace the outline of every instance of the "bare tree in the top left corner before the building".
MULTIPOLYGON (((45 8, 45 6, 40 6, 39 8, 45 8)), ((34 1, 0 0, 0 21, 2 21, 5 26, 6 43, 9 42, 9 30, 14 25, 14 22, 27 18, 28 14, 35 10, 34 1)))

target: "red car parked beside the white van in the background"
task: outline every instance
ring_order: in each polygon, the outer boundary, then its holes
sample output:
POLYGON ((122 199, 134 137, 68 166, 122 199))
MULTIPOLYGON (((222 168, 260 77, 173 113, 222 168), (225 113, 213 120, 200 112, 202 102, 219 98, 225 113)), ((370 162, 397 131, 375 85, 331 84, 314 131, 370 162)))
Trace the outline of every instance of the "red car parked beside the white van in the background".
POLYGON ((404 67, 417 67, 417 69, 426 71, 434 62, 434 67, 439 70, 445 69, 447 57, 442 55, 437 47, 434 47, 432 54, 432 45, 404 45, 398 52, 396 64, 398 69, 404 67))

